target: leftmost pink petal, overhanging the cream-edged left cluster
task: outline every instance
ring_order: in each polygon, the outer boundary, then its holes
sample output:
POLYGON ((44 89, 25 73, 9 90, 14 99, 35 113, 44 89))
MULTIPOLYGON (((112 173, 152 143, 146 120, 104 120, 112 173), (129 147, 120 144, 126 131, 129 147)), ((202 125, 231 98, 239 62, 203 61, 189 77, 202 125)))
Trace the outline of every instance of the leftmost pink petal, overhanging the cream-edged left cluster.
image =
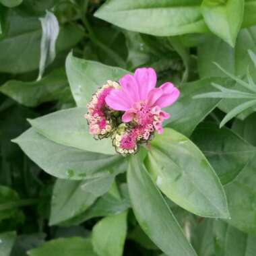
POLYGON ((106 96, 106 104, 115 110, 125 111, 128 110, 131 106, 123 95, 121 90, 112 90, 108 96, 106 96))

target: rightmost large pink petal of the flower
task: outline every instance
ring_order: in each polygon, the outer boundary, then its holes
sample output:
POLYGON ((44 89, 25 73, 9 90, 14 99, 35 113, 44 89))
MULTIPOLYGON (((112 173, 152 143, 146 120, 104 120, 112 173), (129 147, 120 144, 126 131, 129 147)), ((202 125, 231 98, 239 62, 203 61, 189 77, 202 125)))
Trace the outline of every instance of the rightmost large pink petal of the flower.
POLYGON ((160 108, 165 108, 173 104, 180 96, 180 91, 172 83, 165 83, 160 86, 163 91, 162 96, 156 100, 155 105, 160 106, 160 108))

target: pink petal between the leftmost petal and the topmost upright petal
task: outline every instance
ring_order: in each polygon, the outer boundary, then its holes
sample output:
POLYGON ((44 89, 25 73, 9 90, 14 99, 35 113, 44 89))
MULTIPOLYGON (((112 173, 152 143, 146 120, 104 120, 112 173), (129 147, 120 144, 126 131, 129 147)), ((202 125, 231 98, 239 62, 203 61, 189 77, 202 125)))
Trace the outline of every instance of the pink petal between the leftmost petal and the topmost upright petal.
POLYGON ((120 80, 121 90, 125 92, 131 102, 139 102, 139 86, 132 75, 124 75, 120 80))

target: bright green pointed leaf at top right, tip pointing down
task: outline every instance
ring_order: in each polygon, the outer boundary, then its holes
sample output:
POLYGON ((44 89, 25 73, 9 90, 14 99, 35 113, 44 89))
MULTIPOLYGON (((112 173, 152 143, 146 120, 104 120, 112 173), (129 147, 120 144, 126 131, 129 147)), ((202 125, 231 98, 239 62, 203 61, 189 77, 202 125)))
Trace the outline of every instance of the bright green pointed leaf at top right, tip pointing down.
POLYGON ((208 28, 234 47, 241 28, 244 0, 203 0, 201 11, 208 28))

